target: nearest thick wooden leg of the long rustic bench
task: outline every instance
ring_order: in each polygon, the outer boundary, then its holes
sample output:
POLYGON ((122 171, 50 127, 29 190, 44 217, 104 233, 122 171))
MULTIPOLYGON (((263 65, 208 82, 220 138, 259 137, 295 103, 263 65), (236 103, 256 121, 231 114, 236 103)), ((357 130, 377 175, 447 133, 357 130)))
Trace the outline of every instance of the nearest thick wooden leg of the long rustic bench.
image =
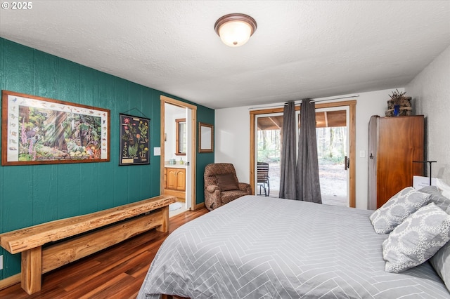
POLYGON ((41 291, 42 248, 32 248, 22 253, 20 286, 31 295, 41 291))

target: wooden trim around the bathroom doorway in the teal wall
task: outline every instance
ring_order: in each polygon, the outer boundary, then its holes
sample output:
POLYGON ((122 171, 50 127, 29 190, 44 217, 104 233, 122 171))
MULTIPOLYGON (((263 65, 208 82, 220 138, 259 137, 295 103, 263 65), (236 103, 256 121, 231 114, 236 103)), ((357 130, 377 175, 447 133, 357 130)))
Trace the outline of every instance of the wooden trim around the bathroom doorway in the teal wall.
MULTIPOLYGON (((160 194, 164 192, 164 168, 165 168, 165 140, 164 140, 164 133, 165 133, 165 104, 171 104, 183 108, 191 109, 191 122, 192 122, 192 128, 191 128, 191 137, 192 137, 192 144, 191 144, 191 161, 189 161, 189 167, 186 168, 186 171, 190 170, 191 174, 191 185, 186 185, 186 188, 191 188, 191 210, 195 210, 196 204, 195 204, 195 145, 197 145, 197 135, 195 128, 197 128, 197 106, 188 104, 187 102, 182 102, 181 100, 175 100, 172 98, 168 98, 165 95, 160 96, 161 100, 161 140, 160 140, 160 147, 161 147, 161 158, 160 158, 160 194)), ((186 173, 187 175, 187 173, 186 173)), ((186 199, 188 200, 188 199, 186 199)))

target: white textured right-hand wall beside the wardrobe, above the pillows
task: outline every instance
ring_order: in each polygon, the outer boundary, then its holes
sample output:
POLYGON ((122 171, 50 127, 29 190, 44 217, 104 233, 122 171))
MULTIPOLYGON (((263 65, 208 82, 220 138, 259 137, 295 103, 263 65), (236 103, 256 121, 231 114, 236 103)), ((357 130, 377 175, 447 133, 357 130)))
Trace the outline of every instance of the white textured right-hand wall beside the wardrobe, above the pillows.
MULTIPOLYGON (((405 88, 416 103, 417 114, 425 115, 426 159, 437 161, 433 177, 450 165, 450 46, 425 67, 405 88)), ((450 174, 444 173, 450 184, 450 174)))

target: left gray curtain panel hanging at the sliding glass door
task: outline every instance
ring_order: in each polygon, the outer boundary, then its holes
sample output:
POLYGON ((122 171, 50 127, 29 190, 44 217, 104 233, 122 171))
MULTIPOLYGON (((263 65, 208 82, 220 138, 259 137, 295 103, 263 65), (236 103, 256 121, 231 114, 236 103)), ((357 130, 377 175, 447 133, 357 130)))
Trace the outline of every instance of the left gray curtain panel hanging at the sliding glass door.
POLYGON ((281 145, 280 198, 297 199, 295 169, 295 103, 287 102, 283 110, 283 144, 281 145))

